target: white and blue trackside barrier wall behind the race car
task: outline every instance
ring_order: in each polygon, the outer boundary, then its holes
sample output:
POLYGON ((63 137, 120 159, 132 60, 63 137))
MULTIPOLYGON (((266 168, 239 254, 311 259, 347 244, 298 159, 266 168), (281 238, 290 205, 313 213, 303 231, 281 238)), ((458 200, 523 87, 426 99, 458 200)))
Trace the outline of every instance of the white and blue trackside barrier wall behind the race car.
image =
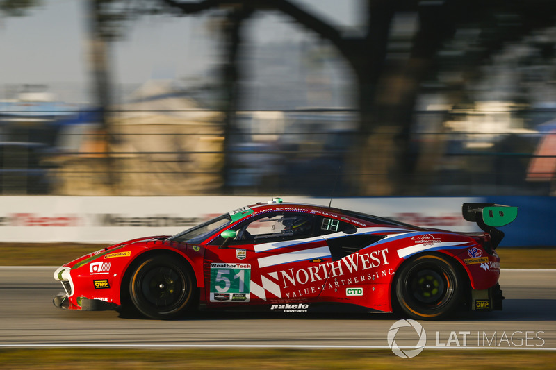
MULTIPOLYGON (((284 196, 284 201, 328 205, 330 199, 284 196)), ((243 205, 249 196, 0 196, 0 242, 111 243, 173 235, 243 205)), ((536 196, 337 198, 332 207, 391 217, 430 228, 480 231, 461 216, 463 203, 519 208, 502 226, 500 246, 556 246, 556 198, 536 196)))

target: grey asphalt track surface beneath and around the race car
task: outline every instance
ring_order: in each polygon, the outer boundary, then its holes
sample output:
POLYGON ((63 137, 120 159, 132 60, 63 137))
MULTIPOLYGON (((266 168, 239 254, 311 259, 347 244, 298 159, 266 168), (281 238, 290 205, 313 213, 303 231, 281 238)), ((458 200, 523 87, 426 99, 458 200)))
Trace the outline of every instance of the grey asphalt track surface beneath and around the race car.
MULTIPOLYGON (((172 321, 60 310, 55 267, 0 267, 0 348, 389 348, 393 314, 196 313, 172 321)), ((502 269, 504 310, 420 321, 425 348, 556 351, 556 270, 502 269)), ((395 335, 414 348, 411 326, 395 335)))

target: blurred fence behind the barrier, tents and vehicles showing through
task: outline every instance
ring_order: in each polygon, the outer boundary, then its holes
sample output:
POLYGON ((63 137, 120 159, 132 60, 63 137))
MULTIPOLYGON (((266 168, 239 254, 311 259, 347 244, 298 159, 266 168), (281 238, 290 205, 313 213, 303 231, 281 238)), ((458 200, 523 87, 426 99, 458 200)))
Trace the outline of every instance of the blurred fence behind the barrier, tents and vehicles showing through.
POLYGON ((398 133, 373 132, 361 153, 354 110, 238 112, 226 140, 213 110, 132 106, 110 113, 107 133, 95 111, 36 108, 0 111, 1 194, 554 195, 556 124, 523 126, 546 112, 414 112, 427 125, 394 176, 398 133))

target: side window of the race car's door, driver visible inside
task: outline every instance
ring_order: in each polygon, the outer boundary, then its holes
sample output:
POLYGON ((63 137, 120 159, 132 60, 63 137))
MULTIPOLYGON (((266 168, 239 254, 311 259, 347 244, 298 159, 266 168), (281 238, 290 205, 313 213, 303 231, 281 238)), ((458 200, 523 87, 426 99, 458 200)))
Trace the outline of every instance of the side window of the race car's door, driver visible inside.
POLYGON ((313 236, 314 215, 277 212, 247 221, 238 228, 234 244, 266 243, 313 236))

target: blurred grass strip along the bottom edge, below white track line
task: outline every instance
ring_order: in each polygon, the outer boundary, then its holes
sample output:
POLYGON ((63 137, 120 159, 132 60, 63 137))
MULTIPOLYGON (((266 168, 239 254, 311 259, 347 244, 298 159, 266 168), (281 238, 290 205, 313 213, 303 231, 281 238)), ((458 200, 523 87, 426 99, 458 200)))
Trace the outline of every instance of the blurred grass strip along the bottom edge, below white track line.
POLYGON ((556 352, 389 350, 3 349, 2 369, 554 369, 556 352))

